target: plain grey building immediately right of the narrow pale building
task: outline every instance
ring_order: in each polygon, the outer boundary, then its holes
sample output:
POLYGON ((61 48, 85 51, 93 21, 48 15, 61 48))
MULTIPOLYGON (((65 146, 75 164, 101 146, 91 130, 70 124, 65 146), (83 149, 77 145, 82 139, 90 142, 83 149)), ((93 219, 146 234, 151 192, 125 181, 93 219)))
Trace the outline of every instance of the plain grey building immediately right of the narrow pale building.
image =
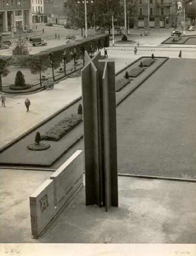
POLYGON ((44 0, 44 22, 66 24, 64 2, 66 0, 44 0))

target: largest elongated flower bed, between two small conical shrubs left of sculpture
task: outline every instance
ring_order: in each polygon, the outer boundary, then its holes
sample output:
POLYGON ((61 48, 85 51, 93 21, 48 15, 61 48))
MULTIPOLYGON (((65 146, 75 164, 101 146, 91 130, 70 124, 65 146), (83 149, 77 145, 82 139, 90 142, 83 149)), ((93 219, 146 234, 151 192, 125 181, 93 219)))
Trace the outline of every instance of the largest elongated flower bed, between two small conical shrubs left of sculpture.
POLYGON ((58 124, 50 128, 49 131, 41 136, 41 139, 58 141, 81 121, 82 115, 72 114, 71 116, 64 118, 58 122, 58 124))

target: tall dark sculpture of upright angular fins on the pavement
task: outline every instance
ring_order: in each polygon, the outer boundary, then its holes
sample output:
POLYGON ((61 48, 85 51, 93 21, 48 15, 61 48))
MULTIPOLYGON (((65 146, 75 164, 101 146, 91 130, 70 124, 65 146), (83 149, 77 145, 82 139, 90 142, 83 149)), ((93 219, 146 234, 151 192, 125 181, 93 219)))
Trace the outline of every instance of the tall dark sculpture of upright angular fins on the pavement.
POLYGON ((86 206, 118 207, 115 63, 90 58, 82 69, 86 206))

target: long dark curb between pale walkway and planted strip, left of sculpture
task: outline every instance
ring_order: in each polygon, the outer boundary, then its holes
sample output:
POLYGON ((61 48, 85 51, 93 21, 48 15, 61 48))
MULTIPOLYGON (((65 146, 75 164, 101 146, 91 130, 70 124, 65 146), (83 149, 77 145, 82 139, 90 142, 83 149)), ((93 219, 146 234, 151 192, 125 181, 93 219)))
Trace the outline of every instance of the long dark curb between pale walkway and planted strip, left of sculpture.
POLYGON ((5 151, 7 148, 11 147, 12 145, 14 145, 15 143, 17 143, 19 140, 23 139, 24 137, 26 137, 27 135, 29 135, 30 133, 32 133, 33 131, 35 131, 37 128, 39 128, 41 125, 44 125, 46 122, 48 122, 49 120, 51 120, 52 118, 54 118, 55 116, 57 116, 59 113, 63 112, 64 110, 66 110, 67 108, 71 107, 72 105, 74 105, 76 102, 80 101, 82 99, 82 96, 78 97, 77 99, 73 100, 72 102, 70 102, 68 105, 66 105, 65 107, 61 108, 60 110, 58 110, 57 112, 55 112, 54 114, 52 114, 51 116, 49 116, 48 118, 46 118, 45 120, 43 120, 42 122, 38 123, 37 125, 33 126, 32 128, 30 128, 28 131, 26 131, 25 133, 21 134, 19 137, 17 137, 15 140, 12 140, 10 143, 6 144, 5 146, 3 146, 2 148, 0 148, 0 153, 2 153, 3 151, 5 151))

